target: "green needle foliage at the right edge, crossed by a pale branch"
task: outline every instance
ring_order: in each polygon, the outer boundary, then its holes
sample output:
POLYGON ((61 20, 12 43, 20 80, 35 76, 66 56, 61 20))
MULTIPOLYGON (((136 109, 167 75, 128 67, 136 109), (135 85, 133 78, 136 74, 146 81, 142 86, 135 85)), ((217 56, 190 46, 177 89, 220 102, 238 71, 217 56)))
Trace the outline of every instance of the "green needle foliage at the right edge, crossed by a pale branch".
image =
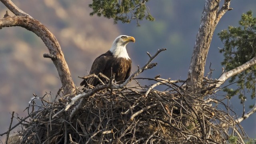
MULTIPOLYGON (((239 21, 240 26, 229 26, 228 30, 222 30, 218 36, 224 43, 224 48, 220 53, 224 54, 223 66, 226 71, 232 70, 248 62, 256 56, 256 18, 252 16, 252 11, 242 14, 239 21)), ((241 103, 246 100, 246 93, 251 92, 251 98, 255 98, 256 88, 256 66, 245 70, 244 72, 230 78, 230 83, 236 83, 235 90, 224 88, 231 98, 238 95, 241 103)))

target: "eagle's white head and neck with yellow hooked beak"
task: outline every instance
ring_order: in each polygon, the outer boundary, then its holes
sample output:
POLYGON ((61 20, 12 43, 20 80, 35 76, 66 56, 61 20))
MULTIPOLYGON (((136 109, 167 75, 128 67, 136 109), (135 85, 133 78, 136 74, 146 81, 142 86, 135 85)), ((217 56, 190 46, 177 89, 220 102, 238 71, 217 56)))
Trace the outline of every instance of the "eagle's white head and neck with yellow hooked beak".
POLYGON ((112 54, 117 58, 130 59, 126 51, 126 44, 128 44, 129 42, 135 42, 135 38, 125 35, 118 36, 114 40, 112 47, 110 48, 110 52, 112 52, 112 54))

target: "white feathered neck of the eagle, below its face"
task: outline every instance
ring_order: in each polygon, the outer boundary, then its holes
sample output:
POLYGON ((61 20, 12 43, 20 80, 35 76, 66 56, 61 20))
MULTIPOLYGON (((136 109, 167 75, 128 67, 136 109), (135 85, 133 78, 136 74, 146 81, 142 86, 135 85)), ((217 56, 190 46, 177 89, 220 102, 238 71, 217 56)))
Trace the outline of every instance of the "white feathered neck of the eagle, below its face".
POLYGON ((109 51, 113 54, 113 56, 116 56, 117 58, 125 58, 127 60, 130 59, 126 51, 126 44, 122 45, 118 42, 114 42, 109 51))

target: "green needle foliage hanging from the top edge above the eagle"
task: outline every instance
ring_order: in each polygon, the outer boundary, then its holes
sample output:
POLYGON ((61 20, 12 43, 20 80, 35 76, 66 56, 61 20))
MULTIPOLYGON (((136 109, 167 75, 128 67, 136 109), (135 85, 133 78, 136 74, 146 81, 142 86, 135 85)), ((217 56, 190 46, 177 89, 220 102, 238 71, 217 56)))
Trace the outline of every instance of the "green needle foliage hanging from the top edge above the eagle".
POLYGON ((90 16, 104 16, 106 18, 113 18, 114 24, 118 21, 122 23, 130 23, 131 20, 136 19, 139 26, 139 20, 154 21, 154 18, 146 6, 148 0, 92 0, 89 7, 92 8, 90 16))

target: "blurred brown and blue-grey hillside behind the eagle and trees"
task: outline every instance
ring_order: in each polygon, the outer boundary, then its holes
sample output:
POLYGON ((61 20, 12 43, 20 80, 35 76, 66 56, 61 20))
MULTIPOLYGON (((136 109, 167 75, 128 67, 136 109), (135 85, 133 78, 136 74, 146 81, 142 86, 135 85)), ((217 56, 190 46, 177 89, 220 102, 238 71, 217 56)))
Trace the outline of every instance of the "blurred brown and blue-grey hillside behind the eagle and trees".
MULTIPOLYGON (((72 78, 79 85, 78 76, 87 75, 93 60, 106 52, 112 41, 121 34, 134 36, 135 44, 128 44, 127 50, 133 61, 133 69, 142 66, 147 60, 146 52, 154 54, 159 48, 168 50, 155 60, 156 68, 148 70, 138 77, 152 78, 158 74, 162 78, 186 79, 196 34, 200 25, 204 1, 150 0, 148 6, 155 22, 141 21, 131 24, 113 25, 113 21, 96 16, 90 17, 86 0, 13 0, 24 12, 44 24, 57 38, 70 68, 72 78)), ((217 33, 228 25, 238 26, 241 14, 248 10, 256 13, 256 1, 231 1, 234 10, 228 11, 220 20, 211 43, 206 72, 215 69, 213 78, 221 73, 222 55, 218 47, 223 44, 217 33)), ((0 16, 7 8, 0 4, 0 16)), ((9 14, 13 14, 9 11, 9 14)), ((256 16, 254 14, 254 16, 256 16)), ((43 58, 48 50, 42 40, 30 31, 20 27, 0 30, 0 133, 8 129, 10 113, 15 111, 24 117, 23 110, 28 106, 32 94, 43 96, 52 92, 55 96, 61 83, 58 72, 48 58, 43 58)), ((149 82, 150 83, 150 82, 149 82)), ((142 82, 148 84, 148 82, 142 82)), ((237 100, 238 101, 238 100, 237 100)), ((239 101, 233 102, 237 108, 239 101)), ((254 100, 248 100, 254 104, 254 100)), ((241 114, 241 111, 238 111, 241 114)), ((256 135, 255 114, 242 123, 248 135, 256 135)), ((2 138, 1 138, 2 139, 2 138)))

